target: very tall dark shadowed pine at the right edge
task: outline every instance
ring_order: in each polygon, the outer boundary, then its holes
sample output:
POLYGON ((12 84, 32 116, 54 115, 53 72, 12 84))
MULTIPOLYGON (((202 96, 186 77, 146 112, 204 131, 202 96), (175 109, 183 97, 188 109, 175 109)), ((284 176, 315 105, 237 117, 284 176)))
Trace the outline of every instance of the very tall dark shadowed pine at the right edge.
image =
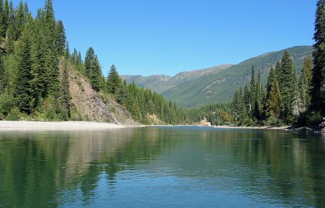
POLYGON ((317 2, 312 71, 312 110, 325 116, 325 1, 317 2))

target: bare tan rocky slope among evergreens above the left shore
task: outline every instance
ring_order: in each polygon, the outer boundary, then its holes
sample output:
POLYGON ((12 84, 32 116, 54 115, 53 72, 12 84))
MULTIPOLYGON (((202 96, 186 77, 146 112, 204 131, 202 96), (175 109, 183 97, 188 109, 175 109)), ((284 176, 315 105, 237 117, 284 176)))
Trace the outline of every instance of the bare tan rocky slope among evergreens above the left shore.
MULTIPOLYGON (((60 70, 64 67, 60 61, 60 70)), ((131 118, 129 111, 117 104, 113 98, 95 92, 90 82, 76 71, 73 66, 67 66, 69 72, 69 90, 71 94, 72 111, 74 120, 97 121, 134 125, 136 122, 131 118)))

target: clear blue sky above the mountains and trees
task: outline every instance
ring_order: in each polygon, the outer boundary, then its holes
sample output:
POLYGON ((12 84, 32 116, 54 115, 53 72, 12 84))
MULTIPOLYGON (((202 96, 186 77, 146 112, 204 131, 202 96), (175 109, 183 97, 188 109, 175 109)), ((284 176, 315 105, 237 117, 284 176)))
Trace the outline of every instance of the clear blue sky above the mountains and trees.
MULTIPOLYGON (((313 44, 317 0, 53 0, 71 50, 92 46, 105 75, 175 75, 313 44)), ((18 0, 14 0, 15 6, 18 0)), ((35 15, 44 0, 30 0, 35 15)))

